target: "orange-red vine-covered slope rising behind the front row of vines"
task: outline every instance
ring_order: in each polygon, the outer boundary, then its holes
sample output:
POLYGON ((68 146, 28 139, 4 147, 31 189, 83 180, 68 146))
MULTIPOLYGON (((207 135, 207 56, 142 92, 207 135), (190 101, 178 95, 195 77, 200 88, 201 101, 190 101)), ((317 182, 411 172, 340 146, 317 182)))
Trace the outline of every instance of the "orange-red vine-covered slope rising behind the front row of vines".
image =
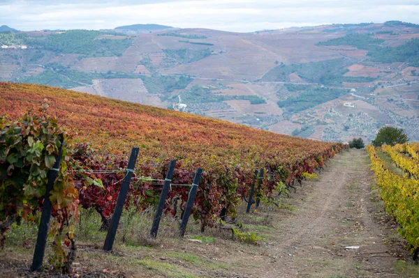
MULTIPOLYGON (((59 88, 0 83, 0 115, 14 119, 42 103, 76 142, 90 142, 103 153, 127 153, 140 146, 139 160, 159 164, 178 157, 184 167, 212 160, 233 164, 294 163, 322 153, 332 143, 266 132, 227 121, 102 98, 59 88), (16 109, 19 107, 19 109, 16 109), (213 157, 214 156, 214 157, 213 157), (152 158, 154 157, 154 158, 152 158), (182 157, 189 157, 182 160, 182 157), (150 162, 150 161, 148 161, 150 162)), ((141 164, 141 162, 140 162, 141 164)))

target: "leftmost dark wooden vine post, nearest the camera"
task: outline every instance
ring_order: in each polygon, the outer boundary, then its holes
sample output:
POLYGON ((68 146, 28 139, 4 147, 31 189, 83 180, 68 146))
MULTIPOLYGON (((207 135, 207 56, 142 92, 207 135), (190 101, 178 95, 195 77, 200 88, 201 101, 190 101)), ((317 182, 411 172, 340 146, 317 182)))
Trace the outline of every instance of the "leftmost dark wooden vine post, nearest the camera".
POLYGON ((57 179, 59 172, 59 164, 61 163, 61 155, 63 153, 64 136, 59 134, 60 146, 58 154, 55 155, 55 163, 52 169, 48 171, 47 191, 45 192, 45 199, 41 214, 41 223, 38 229, 38 238, 36 238, 34 258, 32 260, 31 271, 38 271, 41 269, 43 257, 45 255, 45 245, 47 243, 48 227, 50 226, 50 218, 52 211, 52 203, 50 200, 50 192, 54 187, 54 182, 57 179))

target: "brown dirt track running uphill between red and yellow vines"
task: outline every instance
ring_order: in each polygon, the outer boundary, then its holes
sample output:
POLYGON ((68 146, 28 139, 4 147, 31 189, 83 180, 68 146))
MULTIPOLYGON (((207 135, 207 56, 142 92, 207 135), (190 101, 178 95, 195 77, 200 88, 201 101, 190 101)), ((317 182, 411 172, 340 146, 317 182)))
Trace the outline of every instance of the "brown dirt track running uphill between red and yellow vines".
POLYGON ((386 244, 373 183, 365 151, 337 155, 317 182, 297 188, 296 212, 274 225, 277 242, 237 263, 249 277, 397 277, 393 265, 406 254, 386 244))

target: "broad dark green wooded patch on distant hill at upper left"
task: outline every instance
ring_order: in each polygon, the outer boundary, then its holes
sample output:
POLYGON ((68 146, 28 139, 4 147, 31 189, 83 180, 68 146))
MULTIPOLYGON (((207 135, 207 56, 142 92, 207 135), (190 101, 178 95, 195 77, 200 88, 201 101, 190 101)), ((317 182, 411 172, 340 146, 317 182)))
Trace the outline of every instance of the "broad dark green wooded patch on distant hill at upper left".
POLYGON ((132 43, 130 38, 123 40, 99 38, 103 34, 101 31, 68 30, 64 33, 51 34, 46 38, 30 38, 28 44, 57 53, 103 57, 120 56, 132 43))

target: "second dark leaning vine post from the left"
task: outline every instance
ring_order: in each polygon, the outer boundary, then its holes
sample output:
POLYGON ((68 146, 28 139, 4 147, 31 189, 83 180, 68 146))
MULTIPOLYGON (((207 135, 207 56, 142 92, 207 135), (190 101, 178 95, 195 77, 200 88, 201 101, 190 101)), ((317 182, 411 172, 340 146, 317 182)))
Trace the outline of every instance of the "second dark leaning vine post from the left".
POLYGON ((115 235, 117 234, 119 219, 121 219, 122 210, 126 200, 126 194, 128 193, 129 184, 131 183, 131 178, 133 176, 135 162, 137 162, 139 150, 140 148, 135 147, 131 150, 128 167, 126 167, 126 174, 124 180, 122 181, 121 189, 119 190, 117 205, 115 206, 114 214, 110 220, 108 234, 106 235, 105 244, 103 245, 103 250, 105 251, 112 250, 112 246, 115 241, 115 235))

